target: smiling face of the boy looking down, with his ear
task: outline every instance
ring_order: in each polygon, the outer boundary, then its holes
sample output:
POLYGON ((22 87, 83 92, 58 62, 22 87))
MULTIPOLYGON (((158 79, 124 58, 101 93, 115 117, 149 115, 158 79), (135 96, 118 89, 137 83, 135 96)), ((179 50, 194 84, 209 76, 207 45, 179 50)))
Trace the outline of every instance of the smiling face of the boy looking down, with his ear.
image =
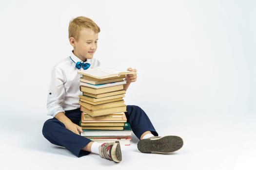
POLYGON ((82 61, 93 58, 97 50, 98 33, 92 29, 83 28, 80 31, 79 40, 69 38, 70 44, 74 47, 74 54, 82 61))

